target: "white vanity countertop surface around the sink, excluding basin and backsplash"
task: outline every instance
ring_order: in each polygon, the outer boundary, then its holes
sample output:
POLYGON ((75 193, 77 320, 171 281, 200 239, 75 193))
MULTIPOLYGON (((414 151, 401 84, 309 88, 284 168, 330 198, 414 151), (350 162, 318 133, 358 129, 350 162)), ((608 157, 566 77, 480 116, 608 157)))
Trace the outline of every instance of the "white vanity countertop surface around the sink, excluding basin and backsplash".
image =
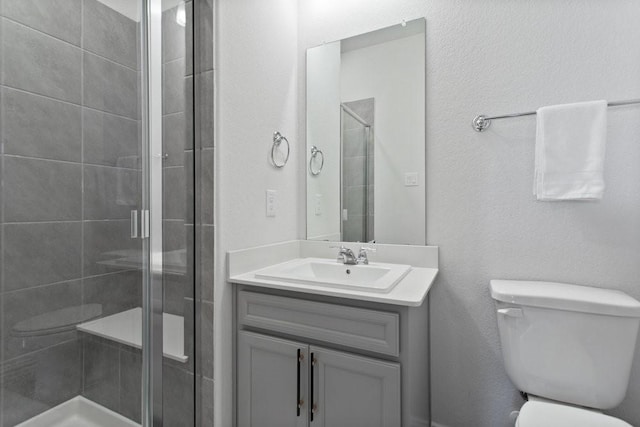
POLYGON ((255 274, 258 270, 231 276, 229 277, 229 281, 235 284, 259 286, 262 288, 304 292, 307 294, 371 301, 383 304, 404 305, 409 307, 419 307, 422 305, 438 274, 437 268, 412 267, 411 271, 397 285, 395 285, 390 292, 380 293, 340 289, 334 286, 298 284, 277 280, 259 279, 256 278, 255 274))

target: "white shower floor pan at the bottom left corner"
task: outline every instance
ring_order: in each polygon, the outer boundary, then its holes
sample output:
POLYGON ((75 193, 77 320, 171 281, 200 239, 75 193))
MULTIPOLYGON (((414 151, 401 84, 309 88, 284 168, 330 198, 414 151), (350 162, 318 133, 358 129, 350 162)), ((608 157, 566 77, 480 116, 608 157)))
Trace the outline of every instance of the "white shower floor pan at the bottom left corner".
POLYGON ((49 409, 16 427, 140 427, 130 419, 82 396, 49 409))

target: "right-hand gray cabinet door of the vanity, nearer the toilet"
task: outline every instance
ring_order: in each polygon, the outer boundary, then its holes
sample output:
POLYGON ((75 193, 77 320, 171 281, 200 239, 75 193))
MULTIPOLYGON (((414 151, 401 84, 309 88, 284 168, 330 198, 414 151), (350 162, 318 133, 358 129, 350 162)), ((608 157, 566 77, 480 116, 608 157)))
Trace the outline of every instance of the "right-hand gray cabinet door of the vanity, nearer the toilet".
POLYGON ((312 427, 399 427, 400 365, 326 350, 312 359, 312 427))

